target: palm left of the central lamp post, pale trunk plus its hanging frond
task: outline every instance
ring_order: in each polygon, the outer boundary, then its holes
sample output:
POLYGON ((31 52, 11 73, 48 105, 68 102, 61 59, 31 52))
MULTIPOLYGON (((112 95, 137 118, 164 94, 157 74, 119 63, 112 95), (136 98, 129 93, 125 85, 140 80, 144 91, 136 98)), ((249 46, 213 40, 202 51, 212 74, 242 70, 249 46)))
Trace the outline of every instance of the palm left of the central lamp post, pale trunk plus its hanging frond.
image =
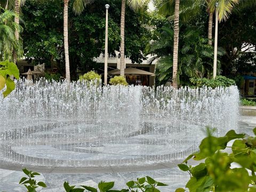
MULTIPOLYGON (((85 6, 89 3, 92 3, 93 1, 94 0, 75 0, 73 4, 73 11, 76 14, 81 14, 85 6)), ((70 82, 69 53, 68 53, 68 3, 69 3, 69 0, 64 0, 63 35, 64 35, 66 79, 68 82, 70 82)))

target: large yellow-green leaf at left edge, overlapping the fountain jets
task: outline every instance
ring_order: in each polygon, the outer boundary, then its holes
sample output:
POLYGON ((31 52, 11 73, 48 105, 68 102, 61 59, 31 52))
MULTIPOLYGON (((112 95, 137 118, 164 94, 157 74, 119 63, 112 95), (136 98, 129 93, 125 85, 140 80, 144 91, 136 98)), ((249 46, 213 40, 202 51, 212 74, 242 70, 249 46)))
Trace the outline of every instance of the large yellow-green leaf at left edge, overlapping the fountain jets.
POLYGON ((14 76, 17 79, 20 78, 18 67, 13 62, 0 62, 0 90, 4 89, 6 85, 6 90, 3 92, 4 98, 15 89, 15 83, 10 76, 14 76))

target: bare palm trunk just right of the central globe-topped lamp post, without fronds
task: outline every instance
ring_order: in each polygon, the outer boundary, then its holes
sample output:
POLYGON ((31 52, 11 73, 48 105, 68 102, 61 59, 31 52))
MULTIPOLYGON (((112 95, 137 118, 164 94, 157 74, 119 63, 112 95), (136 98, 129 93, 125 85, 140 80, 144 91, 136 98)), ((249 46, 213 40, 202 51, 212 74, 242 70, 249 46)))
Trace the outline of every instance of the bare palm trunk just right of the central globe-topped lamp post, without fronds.
MULTIPOLYGON (((120 75, 124 76, 124 26, 125 26, 125 0, 122 0, 121 9, 121 44, 120 44, 120 75)), ((105 56, 106 57, 106 56, 105 56)))

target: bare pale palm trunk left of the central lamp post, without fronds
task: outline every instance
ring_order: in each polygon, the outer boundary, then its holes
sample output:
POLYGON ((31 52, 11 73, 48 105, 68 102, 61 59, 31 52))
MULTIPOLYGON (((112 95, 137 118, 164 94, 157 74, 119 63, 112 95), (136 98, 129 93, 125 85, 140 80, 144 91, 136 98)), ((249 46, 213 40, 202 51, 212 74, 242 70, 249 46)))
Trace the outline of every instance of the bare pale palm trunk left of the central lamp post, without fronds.
POLYGON ((70 70, 69 70, 69 54, 68 54, 68 2, 64 0, 64 14, 63 14, 63 25, 64 25, 64 50, 65 50, 65 63, 66 63, 66 79, 70 82, 70 70))

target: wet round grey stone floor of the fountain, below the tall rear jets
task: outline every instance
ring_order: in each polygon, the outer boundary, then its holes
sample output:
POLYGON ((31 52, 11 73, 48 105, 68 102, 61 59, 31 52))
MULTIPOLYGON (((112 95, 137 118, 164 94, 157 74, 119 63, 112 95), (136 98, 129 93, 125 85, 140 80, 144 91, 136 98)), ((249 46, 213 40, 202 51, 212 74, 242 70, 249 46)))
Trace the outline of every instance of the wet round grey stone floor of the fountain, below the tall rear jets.
MULTIPOLYGON (((48 167, 151 165, 180 159, 193 153, 198 145, 191 135, 193 126, 180 125, 182 129, 178 129, 170 122, 143 122, 139 130, 118 125, 119 129, 111 135, 95 134, 100 125, 99 122, 69 121, 2 132, 9 136, 15 133, 16 137, 5 140, 2 158, 7 162, 48 167)), ((110 123, 103 130, 113 126, 117 125, 110 123)), ((197 137, 202 138, 202 132, 199 133, 197 137)))

